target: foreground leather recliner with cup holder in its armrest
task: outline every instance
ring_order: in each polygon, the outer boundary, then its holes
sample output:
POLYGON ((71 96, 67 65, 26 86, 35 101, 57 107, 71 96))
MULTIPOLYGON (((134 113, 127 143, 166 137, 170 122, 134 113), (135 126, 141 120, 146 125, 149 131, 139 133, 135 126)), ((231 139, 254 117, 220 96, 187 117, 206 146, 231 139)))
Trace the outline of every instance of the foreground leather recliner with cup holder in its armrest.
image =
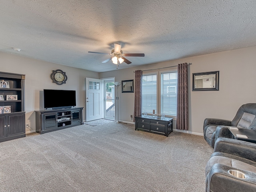
POLYGON ((256 144, 218 138, 205 174, 206 192, 255 192, 256 144))

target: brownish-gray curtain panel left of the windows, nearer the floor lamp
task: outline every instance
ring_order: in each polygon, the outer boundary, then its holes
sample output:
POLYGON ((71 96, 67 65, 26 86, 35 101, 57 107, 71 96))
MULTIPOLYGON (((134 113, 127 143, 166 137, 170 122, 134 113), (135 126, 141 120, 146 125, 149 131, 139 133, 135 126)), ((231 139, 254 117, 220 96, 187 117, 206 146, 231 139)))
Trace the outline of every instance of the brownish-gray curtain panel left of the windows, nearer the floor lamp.
MULTIPOLYGON (((133 117, 142 114, 142 70, 135 71, 135 89, 134 89, 134 114, 133 117)), ((135 122, 135 118, 133 118, 135 122)))

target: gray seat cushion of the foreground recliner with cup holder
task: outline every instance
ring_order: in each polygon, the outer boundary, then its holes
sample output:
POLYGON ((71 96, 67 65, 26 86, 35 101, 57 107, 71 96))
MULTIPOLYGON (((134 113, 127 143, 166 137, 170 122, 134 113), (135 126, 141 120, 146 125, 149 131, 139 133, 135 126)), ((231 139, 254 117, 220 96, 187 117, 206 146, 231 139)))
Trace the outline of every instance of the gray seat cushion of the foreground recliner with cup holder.
POLYGON ((256 172, 255 166, 252 166, 245 162, 242 162, 242 161, 239 161, 236 159, 232 159, 232 158, 228 158, 228 157, 223 157, 223 156, 213 156, 210 158, 210 160, 206 164, 205 176, 207 176, 207 174, 210 172, 212 166, 217 163, 229 166, 231 168, 246 170, 246 171, 250 171, 250 172, 256 172))

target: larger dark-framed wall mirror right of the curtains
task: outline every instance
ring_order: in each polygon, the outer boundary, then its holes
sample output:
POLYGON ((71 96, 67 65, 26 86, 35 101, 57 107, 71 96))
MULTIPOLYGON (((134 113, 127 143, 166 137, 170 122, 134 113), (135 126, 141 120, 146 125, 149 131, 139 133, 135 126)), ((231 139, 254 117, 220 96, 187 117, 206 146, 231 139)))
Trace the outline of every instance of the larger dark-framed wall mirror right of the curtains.
POLYGON ((193 73, 192 91, 218 91, 219 71, 193 73))

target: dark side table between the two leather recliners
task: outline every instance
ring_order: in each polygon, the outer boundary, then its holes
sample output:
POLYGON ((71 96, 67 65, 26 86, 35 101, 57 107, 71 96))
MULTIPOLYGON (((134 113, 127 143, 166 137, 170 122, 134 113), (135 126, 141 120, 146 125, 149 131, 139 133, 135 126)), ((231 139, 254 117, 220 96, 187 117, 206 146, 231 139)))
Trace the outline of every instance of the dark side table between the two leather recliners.
POLYGON ((231 138, 256 143, 256 130, 244 128, 238 128, 238 130, 233 130, 232 127, 228 127, 228 129, 230 130, 231 138), (247 138, 243 138, 243 135, 247 136, 247 138))

